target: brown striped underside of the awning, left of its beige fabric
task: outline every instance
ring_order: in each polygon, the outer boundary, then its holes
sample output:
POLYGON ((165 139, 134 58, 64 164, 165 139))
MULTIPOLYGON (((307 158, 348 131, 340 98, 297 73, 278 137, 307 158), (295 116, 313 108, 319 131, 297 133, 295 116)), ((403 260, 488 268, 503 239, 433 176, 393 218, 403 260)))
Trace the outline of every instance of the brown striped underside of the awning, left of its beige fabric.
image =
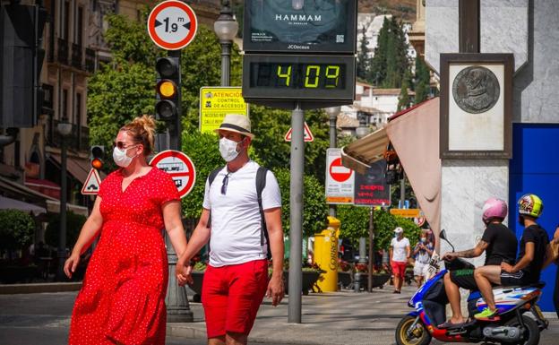
POLYGON ((388 135, 385 127, 367 134, 363 138, 351 142, 341 148, 341 164, 346 168, 365 174, 371 164, 383 159, 384 151, 388 147, 388 135))

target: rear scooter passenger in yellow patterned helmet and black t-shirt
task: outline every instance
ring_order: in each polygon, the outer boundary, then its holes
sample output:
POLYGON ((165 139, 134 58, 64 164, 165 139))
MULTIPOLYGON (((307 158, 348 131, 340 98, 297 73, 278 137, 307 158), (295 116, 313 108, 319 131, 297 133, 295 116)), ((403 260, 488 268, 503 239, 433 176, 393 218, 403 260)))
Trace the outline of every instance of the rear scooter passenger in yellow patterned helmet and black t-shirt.
POLYGON ((498 319, 491 283, 503 286, 529 285, 539 280, 544 265, 553 257, 547 232, 536 222, 544 211, 544 203, 536 194, 524 194, 518 201, 519 222, 524 227, 520 238, 520 254, 516 264, 501 263, 478 267, 474 273, 477 287, 486 301, 486 308, 474 317, 478 320, 498 319))

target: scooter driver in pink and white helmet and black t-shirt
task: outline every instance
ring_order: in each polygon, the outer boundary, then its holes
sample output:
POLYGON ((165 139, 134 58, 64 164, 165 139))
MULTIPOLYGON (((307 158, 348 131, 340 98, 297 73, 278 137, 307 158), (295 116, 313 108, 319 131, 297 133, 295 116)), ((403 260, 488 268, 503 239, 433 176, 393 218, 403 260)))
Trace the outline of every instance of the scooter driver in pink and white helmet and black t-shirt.
MULTIPOLYGON (((458 257, 474 258, 486 252, 485 265, 513 263, 518 241, 512 230, 503 225, 507 211, 507 205, 503 200, 496 198, 487 200, 482 209, 482 220, 486 224, 486 230, 477 246, 461 252, 446 253, 443 255, 443 260, 452 261, 458 257)), ((460 309, 459 288, 477 290, 474 270, 457 270, 444 275, 444 289, 451 304, 452 317, 449 322, 441 325, 443 328, 466 321, 460 309)))

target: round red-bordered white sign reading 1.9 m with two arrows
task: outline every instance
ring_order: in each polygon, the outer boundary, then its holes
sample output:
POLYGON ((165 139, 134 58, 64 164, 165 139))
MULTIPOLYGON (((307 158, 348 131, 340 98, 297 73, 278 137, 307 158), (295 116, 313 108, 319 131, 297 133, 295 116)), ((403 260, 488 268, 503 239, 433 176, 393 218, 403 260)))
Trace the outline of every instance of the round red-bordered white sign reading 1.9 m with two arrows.
POLYGON ((148 32, 153 42, 167 50, 178 50, 192 42, 198 20, 189 5, 176 0, 164 1, 151 10, 148 32))

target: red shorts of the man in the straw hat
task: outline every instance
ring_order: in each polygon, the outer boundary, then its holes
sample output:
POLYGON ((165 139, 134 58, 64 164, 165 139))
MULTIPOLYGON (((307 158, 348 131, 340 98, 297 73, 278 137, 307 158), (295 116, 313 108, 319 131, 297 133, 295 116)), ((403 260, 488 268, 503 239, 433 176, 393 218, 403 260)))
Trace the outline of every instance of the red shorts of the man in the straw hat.
POLYGON ((202 306, 208 338, 251 331, 268 288, 268 261, 223 267, 208 265, 202 284, 202 306))

